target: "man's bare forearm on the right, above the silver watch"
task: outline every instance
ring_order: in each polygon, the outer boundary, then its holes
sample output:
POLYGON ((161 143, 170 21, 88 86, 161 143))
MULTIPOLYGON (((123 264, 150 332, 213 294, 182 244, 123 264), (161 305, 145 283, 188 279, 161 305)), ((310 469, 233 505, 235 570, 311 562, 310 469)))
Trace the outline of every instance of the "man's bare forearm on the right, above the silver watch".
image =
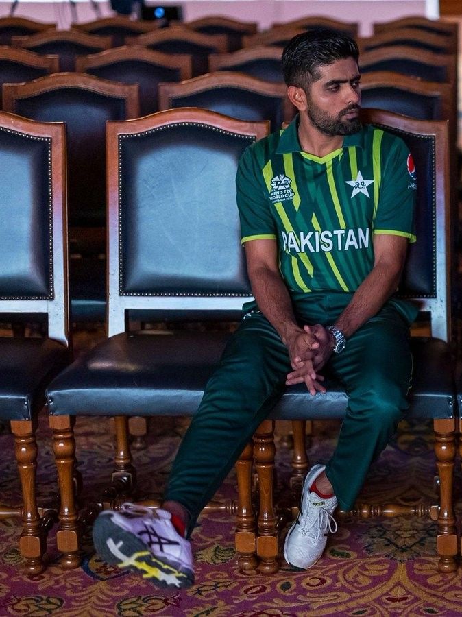
POLYGON ((389 265, 374 266, 369 275, 356 289, 353 298, 335 322, 335 326, 350 337, 361 328, 367 319, 374 317, 396 291, 400 280, 400 271, 390 271, 389 265))

